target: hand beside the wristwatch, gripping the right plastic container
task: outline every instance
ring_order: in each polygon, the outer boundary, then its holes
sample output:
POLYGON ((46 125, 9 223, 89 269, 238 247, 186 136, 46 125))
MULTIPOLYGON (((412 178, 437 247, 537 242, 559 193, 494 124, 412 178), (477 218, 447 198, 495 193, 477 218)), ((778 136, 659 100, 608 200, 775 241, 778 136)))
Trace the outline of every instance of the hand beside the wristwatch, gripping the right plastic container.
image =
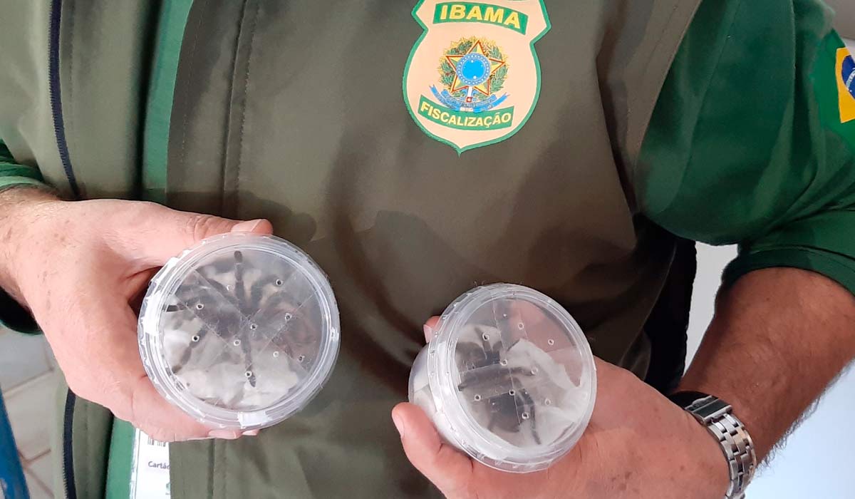
POLYGON ((722 499, 728 468, 714 437, 631 372, 596 360, 591 422, 579 443, 544 471, 484 466, 445 443, 422 409, 408 403, 392 411, 404 452, 450 499, 722 499))

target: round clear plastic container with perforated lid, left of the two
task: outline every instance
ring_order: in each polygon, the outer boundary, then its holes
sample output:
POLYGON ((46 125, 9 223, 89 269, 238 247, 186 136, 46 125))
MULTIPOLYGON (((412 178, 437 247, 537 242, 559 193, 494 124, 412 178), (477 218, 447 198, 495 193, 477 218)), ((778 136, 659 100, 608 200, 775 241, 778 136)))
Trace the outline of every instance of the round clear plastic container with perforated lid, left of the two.
POLYGON ((339 309, 323 271, 269 235, 227 234, 172 258, 139 312, 155 388, 214 428, 257 429, 305 407, 339 353, 339 309))

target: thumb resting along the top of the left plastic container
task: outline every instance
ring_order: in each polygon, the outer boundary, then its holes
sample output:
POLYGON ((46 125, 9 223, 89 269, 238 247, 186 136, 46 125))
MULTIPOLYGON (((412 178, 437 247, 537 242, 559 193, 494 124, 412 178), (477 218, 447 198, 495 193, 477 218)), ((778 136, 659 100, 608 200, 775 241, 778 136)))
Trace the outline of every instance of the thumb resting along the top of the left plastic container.
POLYGON ((127 238, 127 255, 146 266, 160 266, 203 239, 228 232, 272 234, 273 226, 263 219, 239 221, 227 218, 174 211, 161 205, 148 205, 137 213, 127 238))

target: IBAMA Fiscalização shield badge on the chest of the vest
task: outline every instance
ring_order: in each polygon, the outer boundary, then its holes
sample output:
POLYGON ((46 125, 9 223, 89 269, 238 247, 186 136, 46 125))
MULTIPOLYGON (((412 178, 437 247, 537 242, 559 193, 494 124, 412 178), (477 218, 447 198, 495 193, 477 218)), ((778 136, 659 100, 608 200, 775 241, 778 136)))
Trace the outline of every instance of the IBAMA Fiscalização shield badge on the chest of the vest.
POLYGON ((543 0, 420 0, 413 17, 424 31, 404 68, 404 101, 424 133, 458 154, 516 134, 540 97, 543 0))

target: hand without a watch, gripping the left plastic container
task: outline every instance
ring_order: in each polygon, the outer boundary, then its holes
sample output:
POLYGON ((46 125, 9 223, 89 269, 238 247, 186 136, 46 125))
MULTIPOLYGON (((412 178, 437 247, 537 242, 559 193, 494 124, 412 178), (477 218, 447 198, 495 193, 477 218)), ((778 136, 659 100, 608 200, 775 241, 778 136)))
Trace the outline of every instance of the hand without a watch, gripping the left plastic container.
POLYGON ((270 234, 139 201, 68 202, 35 189, 0 193, 0 284, 32 311, 68 387, 164 442, 237 438, 170 405, 146 376, 134 301, 169 258, 211 235, 270 234))

